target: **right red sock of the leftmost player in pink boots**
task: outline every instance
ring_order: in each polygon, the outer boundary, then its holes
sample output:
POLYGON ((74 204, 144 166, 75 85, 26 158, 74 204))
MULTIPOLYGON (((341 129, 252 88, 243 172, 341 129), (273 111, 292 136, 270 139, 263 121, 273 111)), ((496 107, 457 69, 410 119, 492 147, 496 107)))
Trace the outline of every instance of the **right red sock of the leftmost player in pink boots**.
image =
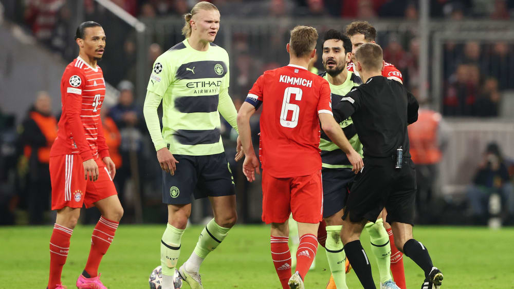
POLYGON ((111 245, 114 239, 114 234, 118 228, 119 222, 105 219, 103 216, 100 217, 95 229, 93 229, 93 235, 91 235, 91 251, 89 251, 89 257, 84 271, 93 278, 98 276, 98 266, 103 255, 107 252, 107 249, 111 245))

